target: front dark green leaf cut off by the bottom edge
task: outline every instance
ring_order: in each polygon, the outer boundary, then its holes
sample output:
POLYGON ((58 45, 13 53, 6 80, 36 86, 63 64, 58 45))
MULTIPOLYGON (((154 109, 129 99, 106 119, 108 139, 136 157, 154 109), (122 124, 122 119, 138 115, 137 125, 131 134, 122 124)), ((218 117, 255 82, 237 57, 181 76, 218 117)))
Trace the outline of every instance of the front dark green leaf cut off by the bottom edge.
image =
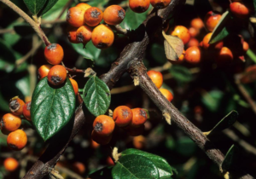
POLYGON ((112 170, 114 179, 160 178, 154 163, 142 155, 130 154, 119 159, 112 170))

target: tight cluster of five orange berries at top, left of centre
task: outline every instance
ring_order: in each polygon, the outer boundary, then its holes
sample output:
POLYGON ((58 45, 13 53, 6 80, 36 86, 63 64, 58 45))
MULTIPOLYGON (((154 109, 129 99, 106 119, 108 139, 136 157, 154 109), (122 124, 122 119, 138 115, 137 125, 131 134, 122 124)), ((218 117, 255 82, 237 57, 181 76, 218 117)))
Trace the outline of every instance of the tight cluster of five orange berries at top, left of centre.
POLYGON ((111 5, 103 13, 87 3, 79 3, 68 9, 66 19, 70 25, 68 39, 71 43, 86 44, 91 39, 96 48, 107 49, 113 43, 113 31, 100 22, 104 20, 108 25, 118 25, 125 19, 125 10, 119 5, 111 5))

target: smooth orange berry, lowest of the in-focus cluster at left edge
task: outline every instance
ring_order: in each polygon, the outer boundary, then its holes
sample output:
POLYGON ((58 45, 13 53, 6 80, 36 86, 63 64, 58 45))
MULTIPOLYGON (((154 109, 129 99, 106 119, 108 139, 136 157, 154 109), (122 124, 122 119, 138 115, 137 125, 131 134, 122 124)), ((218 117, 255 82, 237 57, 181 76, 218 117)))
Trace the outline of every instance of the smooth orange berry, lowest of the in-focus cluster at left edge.
POLYGON ((7 137, 8 147, 15 151, 23 149, 26 146, 26 141, 26 133, 23 130, 15 130, 7 137))

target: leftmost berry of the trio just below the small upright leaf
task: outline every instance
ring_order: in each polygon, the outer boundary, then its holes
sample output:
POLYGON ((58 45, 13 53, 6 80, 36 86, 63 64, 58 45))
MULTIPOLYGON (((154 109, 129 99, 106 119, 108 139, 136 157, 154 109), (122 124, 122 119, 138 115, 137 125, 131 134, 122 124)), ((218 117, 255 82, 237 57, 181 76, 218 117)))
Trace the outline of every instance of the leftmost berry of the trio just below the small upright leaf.
MULTIPOLYGON (((92 126, 94 131, 100 136, 109 136, 113 133, 114 130, 114 121, 113 118, 110 118, 106 115, 100 115, 96 117, 92 126)), ((95 140, 94 140, 95 141, 95 140)))

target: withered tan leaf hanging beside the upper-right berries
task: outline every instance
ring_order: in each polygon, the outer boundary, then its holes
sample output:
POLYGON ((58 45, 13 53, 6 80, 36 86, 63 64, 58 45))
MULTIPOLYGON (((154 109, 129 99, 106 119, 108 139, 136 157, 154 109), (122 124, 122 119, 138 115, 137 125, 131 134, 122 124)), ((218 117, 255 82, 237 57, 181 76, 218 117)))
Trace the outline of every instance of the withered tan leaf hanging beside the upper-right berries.
POLYGON ((175 36, 166 35, 166 32, 162 32, 165 38, 165 50, 166 58, 169 61, 177 61, 178 57, 183 54, 184 44, 182 39, 175 36))

